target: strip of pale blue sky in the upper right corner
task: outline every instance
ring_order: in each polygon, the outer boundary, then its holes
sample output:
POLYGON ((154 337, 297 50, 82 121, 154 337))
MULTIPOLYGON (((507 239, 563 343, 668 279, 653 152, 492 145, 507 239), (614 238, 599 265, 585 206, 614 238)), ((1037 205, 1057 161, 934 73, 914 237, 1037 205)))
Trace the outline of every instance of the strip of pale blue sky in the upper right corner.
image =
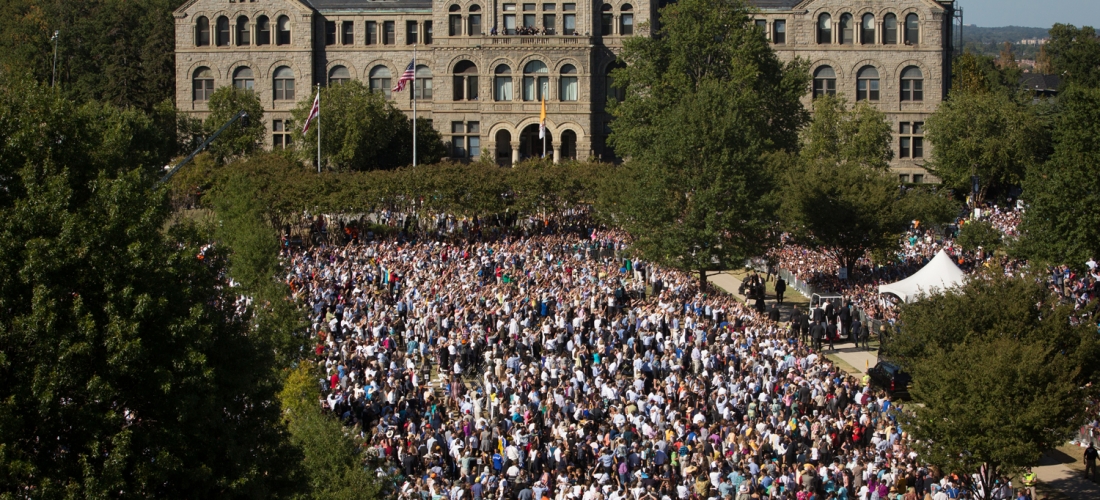
POLYGON ((1050 27, 1055 23, 1100 29, 1100 0, 956 0, 963 22, 981 27, 1050 27))

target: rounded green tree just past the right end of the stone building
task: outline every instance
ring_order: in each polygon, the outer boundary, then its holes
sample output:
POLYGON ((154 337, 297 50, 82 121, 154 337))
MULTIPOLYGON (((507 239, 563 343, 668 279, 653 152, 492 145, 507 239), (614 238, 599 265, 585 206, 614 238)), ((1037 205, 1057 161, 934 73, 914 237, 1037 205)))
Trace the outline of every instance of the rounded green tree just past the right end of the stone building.
POLYGON ((1047 147, 1046 127, 1037 110, 1002 92, 956 92, 925 123, 935 145, 927 168, 944 185, 970 191, 971 176, 981 180, 976 202, 991 187, 1018 186, 1028 166, 1047 147))

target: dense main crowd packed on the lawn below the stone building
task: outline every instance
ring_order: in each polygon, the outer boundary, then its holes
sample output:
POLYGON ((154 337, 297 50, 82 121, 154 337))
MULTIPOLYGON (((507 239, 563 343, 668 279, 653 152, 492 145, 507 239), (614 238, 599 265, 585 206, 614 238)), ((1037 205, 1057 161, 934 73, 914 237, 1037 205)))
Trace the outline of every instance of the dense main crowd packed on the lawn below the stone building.
POLYGON ((284 252, 318 404, 398 498, 968 495, 922 465, 884 393, 732 296, 631 262, 583 212, 436 229, 284 252))

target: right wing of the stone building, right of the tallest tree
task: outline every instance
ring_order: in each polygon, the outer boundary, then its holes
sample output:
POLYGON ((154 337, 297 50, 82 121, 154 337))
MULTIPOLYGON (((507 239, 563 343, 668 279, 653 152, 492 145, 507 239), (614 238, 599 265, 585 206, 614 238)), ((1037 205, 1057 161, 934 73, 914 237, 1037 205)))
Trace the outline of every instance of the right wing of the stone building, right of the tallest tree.
POLYGON ((867 100, 893 124, 892 168, 909 181, 937 181, 922 166, 931 156, 922 126, 950 87, 954 2, 759 0, 757 4, 758 23, 765 23, 761 27, 779 56, 811 64, 814 84, 806 107, 815 91, 835 91, 853 104, 867 100), (893 29, 888 30, 891 19, 893 29), (777 36, 780 30, 783 35, 777 36), (876 88, 878 96, 872 92, 876 88))

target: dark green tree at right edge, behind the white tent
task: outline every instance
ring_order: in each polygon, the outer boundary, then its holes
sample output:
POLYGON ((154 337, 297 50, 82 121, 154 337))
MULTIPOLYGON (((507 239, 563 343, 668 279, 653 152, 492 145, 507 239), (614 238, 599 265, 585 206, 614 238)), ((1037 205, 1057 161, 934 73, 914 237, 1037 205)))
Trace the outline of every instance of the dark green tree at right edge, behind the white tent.
POLYGON ((1021 249, 1080 269, 1100 252, 1100 89, 1070 86, 1058 104, 1054 154, 1027 169, 1021 249))

